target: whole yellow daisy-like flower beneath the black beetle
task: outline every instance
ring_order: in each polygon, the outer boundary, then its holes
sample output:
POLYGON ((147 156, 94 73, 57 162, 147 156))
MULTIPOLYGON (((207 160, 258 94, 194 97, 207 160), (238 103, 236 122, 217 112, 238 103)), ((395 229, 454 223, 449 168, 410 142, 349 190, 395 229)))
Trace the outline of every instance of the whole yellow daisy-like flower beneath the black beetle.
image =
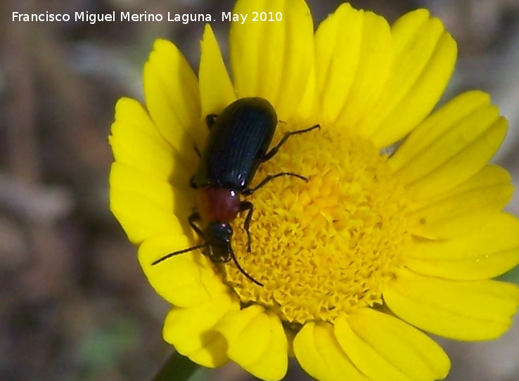
POLYGON ((198 78, 165 40, 144 68, 146 108, 122 98, 110 144, 110 202, 150 284, 172 309, 165 340, 207 367, 236 361, 264 380, 288 356, 319 380, 435 380, 449 359, 422 330, 489 340, 511 324, 519 289, 492 280, 519 263, 513 191, 487 164, 507 122, 481 91, 435 111, 456 43, 423 9, 390 26, 343 4, 314 34, 303 0, 238 0, 224 66, 210 25, 198 78), (252 21, 255 12, 281 21, 252 21), (270 13, 272 12, 272 13, 270 13), (189 179, 205 116, 237 98, 274 105, 288 139, 259 167, 283 176, 250 195, 252 252, 233 221, 238 263, 186 252, 200 243, 187 217, 189 179), (387 148, 403 139, 394 155, 387 148))

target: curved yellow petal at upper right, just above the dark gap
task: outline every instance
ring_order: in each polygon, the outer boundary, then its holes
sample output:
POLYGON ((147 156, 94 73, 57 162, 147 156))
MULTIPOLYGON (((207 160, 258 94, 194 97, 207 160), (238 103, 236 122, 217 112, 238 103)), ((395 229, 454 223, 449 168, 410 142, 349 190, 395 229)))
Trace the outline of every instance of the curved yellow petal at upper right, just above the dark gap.
POLYGON ((377 147, 406 136, 440 99, 456 62, 456 42, 442 22, 418 9, 392 25, 392 72, 376 105, 357 129, 377 147))

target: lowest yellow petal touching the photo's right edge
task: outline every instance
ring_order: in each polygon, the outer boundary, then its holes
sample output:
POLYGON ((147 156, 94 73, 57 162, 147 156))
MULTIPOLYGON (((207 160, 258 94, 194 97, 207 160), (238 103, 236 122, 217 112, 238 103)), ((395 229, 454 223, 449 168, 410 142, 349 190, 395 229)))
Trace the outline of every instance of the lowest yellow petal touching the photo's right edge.
POLYGON ((404 270, 387 285, 383 297, 404 321, 466 341, 499 337, 519 306, 519 288, 511 283, 444 280, 404 270))

